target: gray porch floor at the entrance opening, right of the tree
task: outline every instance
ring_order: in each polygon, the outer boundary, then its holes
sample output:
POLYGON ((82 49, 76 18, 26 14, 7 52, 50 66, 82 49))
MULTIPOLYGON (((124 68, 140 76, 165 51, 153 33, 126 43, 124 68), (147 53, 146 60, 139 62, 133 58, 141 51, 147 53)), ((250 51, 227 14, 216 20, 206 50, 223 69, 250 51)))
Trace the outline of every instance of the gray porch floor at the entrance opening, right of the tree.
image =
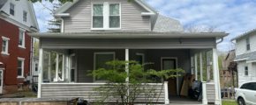
POLYGON ((201 105, 202 102, 198 102, 195 100, 192 100, 191 98, 187 98, 186 96, 181 96, 181 95, 169 95, 169 105, 201 105))

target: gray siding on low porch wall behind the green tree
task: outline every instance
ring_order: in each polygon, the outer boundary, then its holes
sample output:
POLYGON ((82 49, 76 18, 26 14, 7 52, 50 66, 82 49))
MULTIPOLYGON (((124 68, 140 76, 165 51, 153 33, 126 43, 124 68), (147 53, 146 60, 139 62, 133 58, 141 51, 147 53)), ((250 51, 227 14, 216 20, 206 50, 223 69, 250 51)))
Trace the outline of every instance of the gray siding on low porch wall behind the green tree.
MULTIPOLYGON (((99 96, 100 93, 97 93, 93 88, 99 88, 103 84, 41 84, 41 97, 83 97, 85 100, 94 102, 94 96, 99 96)), ((157 92, 157 95, 160 95, 158 102, 164 102, 164 88, 162 85, 150 85, 154 87, 157 92)), ((139 95, 135 102, 147 102, 145 95, 139 95)), ((149 98, 150 100, 150 98, 149 98)), ((152 99, 153 102, 156 102, 156 99, 152 99)), ((120 100, 119 100, 120 101, 120 100)), ((117 102, 117 98, 112 98, 109 102, 117 102)))

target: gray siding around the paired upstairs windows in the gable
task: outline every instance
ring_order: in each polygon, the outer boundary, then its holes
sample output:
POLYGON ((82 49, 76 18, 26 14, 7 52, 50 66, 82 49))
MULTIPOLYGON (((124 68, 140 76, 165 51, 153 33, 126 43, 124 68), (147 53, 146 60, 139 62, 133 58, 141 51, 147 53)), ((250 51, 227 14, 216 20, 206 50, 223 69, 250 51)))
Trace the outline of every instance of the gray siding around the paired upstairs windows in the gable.
MULTIPOLYGON (((65 13, 70 17, 64 18, 64 32, 91 31, 91 2, 101 0, 79 0, 65 13)), ((121 2, 122 31, 150 31, 150 17, 142 17, 141 12, 147 12, 139 4, 127 0, 106 0, 104 2, 121 2)))

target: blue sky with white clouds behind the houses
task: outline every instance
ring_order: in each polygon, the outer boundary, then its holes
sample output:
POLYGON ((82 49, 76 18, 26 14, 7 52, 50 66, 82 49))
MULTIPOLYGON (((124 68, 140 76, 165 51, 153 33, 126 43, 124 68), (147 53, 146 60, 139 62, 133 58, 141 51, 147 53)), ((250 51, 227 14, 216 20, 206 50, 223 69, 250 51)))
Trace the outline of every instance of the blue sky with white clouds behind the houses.
MULTIPOLYGON (((217 45, 226 52, 230 39, 256 28, 256 0, 145 0, 161 15, 175 18, 182 25, 217 25, 219 31, 230 33, 217 45)), ((49 2, 43 2, 52 7, 49 2)), ((34 11, 41 32, 47 31, 50 11, 40 3, 34 4, 34 11)))

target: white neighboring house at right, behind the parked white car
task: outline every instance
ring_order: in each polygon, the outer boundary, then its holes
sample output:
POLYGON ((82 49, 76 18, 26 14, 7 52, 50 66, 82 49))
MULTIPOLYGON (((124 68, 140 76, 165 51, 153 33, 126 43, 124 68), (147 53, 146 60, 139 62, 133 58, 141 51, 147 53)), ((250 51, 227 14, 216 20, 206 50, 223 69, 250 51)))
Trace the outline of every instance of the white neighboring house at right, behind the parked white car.
POLYGON ((247 31, 230 41, 236 40, 238 86, 245 81, 256 80, 256 29, 247 31))

